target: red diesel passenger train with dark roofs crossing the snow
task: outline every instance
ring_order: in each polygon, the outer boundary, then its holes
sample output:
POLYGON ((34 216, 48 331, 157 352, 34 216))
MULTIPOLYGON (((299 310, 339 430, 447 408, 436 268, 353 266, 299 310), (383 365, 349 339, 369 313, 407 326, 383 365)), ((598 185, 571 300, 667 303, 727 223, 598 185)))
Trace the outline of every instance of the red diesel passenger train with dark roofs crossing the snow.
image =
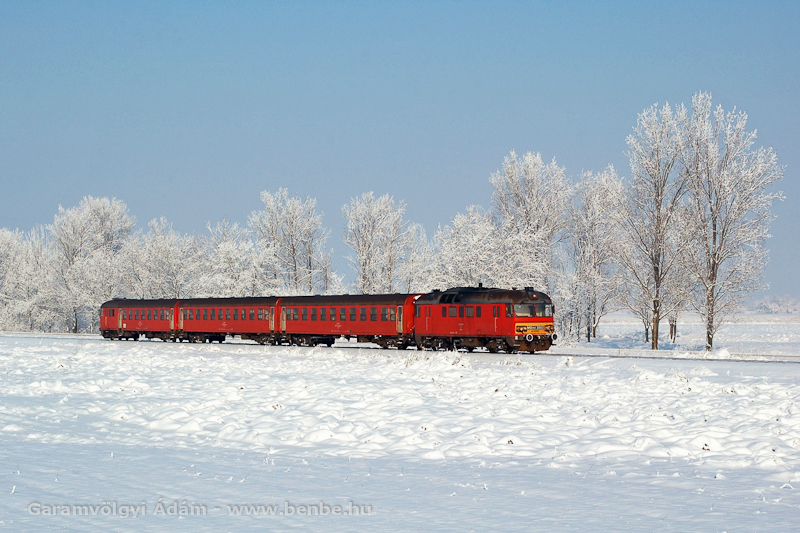
POLYGON ((114 299, 100 308, 106 339, 331 346, 338 338, 404 350, 548 350, 553 302, 531 287, 454 287, 424 294, 114 299))

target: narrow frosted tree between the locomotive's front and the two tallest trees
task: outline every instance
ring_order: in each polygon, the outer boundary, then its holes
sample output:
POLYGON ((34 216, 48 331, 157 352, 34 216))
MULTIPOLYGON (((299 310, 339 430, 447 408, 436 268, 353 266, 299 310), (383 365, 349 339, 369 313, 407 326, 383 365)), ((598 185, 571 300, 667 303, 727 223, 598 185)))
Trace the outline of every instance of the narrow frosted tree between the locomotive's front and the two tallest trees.
POLYGON ((609 166, 598 174, 585 172, 581 176, 569 208, 567 249, 579 294, 567 301, 576 303, 575 312, 582 317, 587 342, 597 336, 600 319, 616 308, 622 296, 617 262, 619 227, 614 221, 621 201, 622 182, 609 166))

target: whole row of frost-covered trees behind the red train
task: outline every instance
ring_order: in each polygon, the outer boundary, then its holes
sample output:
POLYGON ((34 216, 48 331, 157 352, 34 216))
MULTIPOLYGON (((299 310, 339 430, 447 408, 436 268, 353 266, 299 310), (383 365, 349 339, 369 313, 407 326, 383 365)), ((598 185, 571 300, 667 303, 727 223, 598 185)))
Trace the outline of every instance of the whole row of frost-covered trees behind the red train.
POLYGON ((189 298, 434 288, 533 286, 549 293, 565 338, 597 334, 603 316, 630 309, 658 348, 663 321, 675 341, 682 313, 697 312, 706 348, 752 291, 763 288, 771 186, 783 168, 754 148, 747 115, 653 105, 627 138, 630 177, 609 166, 567 178, 555 159, 511 152, 490 176, 491 206, 469 206, 428 237, 389 195, 342 207, 354 279, 331 267, 330 231, 316 200, 261 193, 246 226, 226 220, 182 235, 165 218, 135 229, 118 199, 59 206, 51 224, 0 229, 0 328, 97 331, 115 297, 189 298))

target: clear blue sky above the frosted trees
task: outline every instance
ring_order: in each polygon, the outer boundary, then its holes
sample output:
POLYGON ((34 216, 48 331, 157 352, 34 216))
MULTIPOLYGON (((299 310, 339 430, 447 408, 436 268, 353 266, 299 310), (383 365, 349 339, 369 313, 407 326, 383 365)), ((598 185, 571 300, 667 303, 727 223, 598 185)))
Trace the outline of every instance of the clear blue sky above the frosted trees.
POLYGON ((245 223, 259 192, 389 193, 429 234, 509 150, 627 176, 653 103, 704 90, 774 147, 773 294, 800 297, 800 3, 0 3, 0 226, 87 195, 144 226, 245 223))

